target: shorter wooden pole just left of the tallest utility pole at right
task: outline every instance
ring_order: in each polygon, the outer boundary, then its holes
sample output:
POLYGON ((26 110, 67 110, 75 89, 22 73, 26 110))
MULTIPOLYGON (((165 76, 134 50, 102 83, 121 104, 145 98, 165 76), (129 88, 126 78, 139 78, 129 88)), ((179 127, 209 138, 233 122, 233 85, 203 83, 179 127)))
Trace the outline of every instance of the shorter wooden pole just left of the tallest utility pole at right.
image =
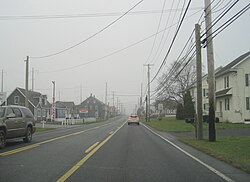
POLYGON ((202 128, 202 66, 201 66, 201 40, 200 40, 200 25, 195 24, 195 39, 196 39, 196 77, 197 77, 197 120, 196 131, 197 139, 203 139, 202 128))

